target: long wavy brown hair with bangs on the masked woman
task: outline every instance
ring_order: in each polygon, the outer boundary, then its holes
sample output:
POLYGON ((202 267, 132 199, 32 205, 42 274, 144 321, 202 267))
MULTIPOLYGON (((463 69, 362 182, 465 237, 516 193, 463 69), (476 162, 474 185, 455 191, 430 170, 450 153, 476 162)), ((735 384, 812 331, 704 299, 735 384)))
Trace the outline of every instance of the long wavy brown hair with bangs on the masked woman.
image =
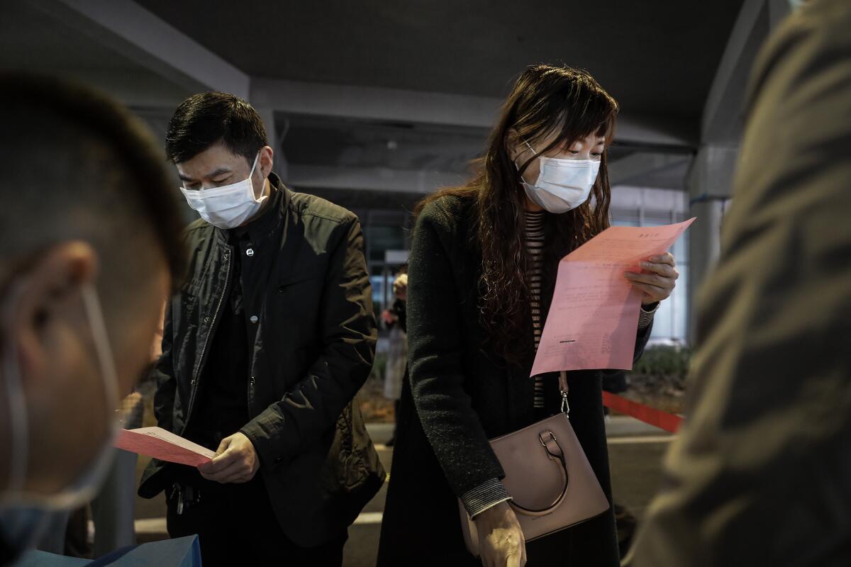
MULTIPOLYGON (((478 162, 477 175, 462 187, 437 191, 420 202, 417 213, 431 201, 457 196, 475 201, 472 230, 482 252, 481 323, 494 354, 517 363, 528 355, 529 343, 518 340, 528 330, 527 254, 523 246, 526 195, 520 175, 536 156, 523 163, 511 159, 511 146, 525 140, 539 155, 567 149, 596 133, 606 147, 614 133, 618 103, 586 71, 570 67, 532 65, 514 85, 500 120, 478 162), (543 148, 540 144, 549 142, 543 148), (540 149, 539 149, 540 148, 540 149), (519 170, 518 170, 519 167, 519 170)), ((603 151, 600 173, 591 197, 568 213, 547 214, 546 264, 579 247, 608 228, 610 187, 603 151)))

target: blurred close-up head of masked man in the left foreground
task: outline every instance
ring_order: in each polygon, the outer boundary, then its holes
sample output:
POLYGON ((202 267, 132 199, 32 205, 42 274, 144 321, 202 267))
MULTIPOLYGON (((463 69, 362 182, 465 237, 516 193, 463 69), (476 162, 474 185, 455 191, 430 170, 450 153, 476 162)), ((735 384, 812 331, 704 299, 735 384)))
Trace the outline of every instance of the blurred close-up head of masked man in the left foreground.
POLYGON ((123 109, 0 77, 0 564, 94 496, 182 272, 162 157, 123 109))

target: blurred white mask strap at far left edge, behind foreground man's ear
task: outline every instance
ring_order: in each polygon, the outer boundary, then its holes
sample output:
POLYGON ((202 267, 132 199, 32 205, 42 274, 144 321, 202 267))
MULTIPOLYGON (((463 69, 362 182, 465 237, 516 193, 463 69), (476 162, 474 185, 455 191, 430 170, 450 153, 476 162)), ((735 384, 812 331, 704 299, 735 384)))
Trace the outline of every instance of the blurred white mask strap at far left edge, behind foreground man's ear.
POLYGON ((26 396, 24 385, 20 378, 18 349, 11 332, 14 308, 18 303, 25 286, 23 281, 13 283, 9 289, 9 298, 3 307, 3 324, 6 326, 6 352, 3 356, 3 381, 6 383, 6 394, 9 405, 9 431, 11 433, 11 455, 9 455, 9 482, 5 491, 12 494, 23 490, 26 482, 26 468, 29 465, 30 423, 26 411, 26 396))

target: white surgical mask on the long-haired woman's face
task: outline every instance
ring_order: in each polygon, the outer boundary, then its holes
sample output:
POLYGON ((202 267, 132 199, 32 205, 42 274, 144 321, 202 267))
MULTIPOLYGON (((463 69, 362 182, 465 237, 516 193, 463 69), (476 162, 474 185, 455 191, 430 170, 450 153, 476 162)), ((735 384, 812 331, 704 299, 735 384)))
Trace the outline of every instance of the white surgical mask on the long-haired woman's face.
MULTIPOLYGON (((528 142, 524 144, 535 156, 538 155, 528 142)), ((534 204, 550 213, 567 213, 588 200, 600 171, 599 161, 563 160, 545 156, 540 156, 538 160, 538 181, 530 185, 523 178, 520 180, 526 195, 534 204)), ((514 165, 519 170, 517 162, 514 165)))

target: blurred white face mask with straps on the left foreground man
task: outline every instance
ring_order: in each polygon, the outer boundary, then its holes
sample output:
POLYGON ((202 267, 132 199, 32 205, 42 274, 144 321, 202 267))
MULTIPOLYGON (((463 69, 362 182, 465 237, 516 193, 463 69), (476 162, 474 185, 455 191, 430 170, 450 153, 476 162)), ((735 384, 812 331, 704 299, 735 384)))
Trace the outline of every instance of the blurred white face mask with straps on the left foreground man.
MULTIPOLYGON (((7 304, 5 322, 7 328, 14 312, 14 305, 20 296, 22 285, 13 286, 7 304)), ((94 349, 100 363, 100 382, 106 396, 106 416, 104 422, 103 445, 94 460, 81 473, 77 479, 54 494, 36 494, 27 492, 26 468, 29 462, 30 434, 29 417, 26 407, 26 396, 20 374, 17 352, 14 339, 9 332, 9 337, 4 346, 3 353, 3 382, 9 399, 9 425, 11 428, 12 451, 9 455, 9 485, 0 491, 0 521, 3 522, 3 531, 6 533, 20 531, 32 524, 33 513, 46 511, 69 510, 81 507, 91 501, 100 490, 100 485, 109 471, 115 449, 112 443, 118 433, 119 422, 117 421, 116 403, 118 400, 118 378, 115 370, 115 360, 106 335, 103 313, 100 309, 100 301, 94 287, 83 287, 83 304, 86 309, 86 317, 89 320, 89 328, 94 339, 94 349), (17 519, 27 519, 27 524, 19 524, 17 519)), ((23 520, 22 520, 23 521, 23 520)))

